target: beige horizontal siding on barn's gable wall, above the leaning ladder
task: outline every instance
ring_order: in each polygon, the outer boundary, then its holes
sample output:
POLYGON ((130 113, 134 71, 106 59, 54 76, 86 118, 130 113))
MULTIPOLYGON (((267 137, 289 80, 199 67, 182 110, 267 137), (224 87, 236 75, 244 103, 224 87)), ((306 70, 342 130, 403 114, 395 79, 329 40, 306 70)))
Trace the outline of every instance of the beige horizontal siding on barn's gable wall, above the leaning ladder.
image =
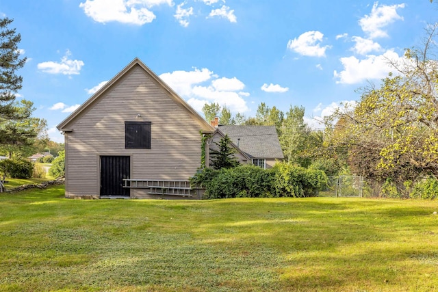
POLYGON ((201 129, 179 103, 135 66, 69 124, 70 196, 99 194, 99 155, 130 155, 131 178, 188 179, 201 164, 201 129), (136 118, 140 114, 142 118, 136 118), (125 149, 125 121, 151 124, 151 149, 125 149))

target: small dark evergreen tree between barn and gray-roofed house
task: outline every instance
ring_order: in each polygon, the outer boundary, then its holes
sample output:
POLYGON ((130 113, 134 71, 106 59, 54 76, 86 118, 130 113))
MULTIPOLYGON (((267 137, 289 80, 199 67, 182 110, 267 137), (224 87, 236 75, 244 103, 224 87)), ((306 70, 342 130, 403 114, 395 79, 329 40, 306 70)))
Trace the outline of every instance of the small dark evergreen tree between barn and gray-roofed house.
POLYGON ((210 166, 215 170, 221 168, 235 168, 239 165, 239 161, 234 156, 235 149, 231 147, 231 139, 225 135, 219 142, 214 142, 218 146, 218 150, 210 149, 210 166))

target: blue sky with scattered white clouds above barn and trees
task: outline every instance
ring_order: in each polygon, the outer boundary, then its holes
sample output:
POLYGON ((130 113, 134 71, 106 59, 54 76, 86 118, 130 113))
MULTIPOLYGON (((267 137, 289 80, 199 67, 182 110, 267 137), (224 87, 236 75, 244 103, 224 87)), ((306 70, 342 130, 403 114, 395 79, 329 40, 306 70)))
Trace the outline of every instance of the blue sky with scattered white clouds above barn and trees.
POLYGON ((0 0, 28 58, 18 97, 57 142, 55 126, 135 57, 198 111, 302 105, 321 127, 421 46, 437 12, 428 0, 0 0))

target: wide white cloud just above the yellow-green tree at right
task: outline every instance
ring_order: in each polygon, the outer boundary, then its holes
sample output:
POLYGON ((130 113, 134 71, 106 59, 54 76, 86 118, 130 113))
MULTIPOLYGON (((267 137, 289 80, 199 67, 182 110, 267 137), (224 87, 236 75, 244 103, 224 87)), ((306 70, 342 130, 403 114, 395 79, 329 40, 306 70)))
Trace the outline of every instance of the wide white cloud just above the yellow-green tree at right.
POLYGON ((393 62, 404 62, 394 51, 386 51, 383 55, 368 55, 365 59, 356 57, 342 57, 340 59, 344 70, 334 71, 334 77, 338 78, 337 83, 354 84, 367 79, 383 79, 389 72, 394 71, 390 66, 389 60, 393 62))

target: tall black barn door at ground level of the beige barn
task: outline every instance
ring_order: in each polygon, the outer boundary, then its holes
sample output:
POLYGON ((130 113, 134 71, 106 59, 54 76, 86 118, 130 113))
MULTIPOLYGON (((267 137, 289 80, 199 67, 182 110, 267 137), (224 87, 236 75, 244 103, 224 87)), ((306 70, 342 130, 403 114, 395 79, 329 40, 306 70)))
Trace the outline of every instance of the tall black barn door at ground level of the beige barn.
POLYGON ((129 156, 101 156, 101 196, 126 196, 123 178, 129 178, 129 156))

